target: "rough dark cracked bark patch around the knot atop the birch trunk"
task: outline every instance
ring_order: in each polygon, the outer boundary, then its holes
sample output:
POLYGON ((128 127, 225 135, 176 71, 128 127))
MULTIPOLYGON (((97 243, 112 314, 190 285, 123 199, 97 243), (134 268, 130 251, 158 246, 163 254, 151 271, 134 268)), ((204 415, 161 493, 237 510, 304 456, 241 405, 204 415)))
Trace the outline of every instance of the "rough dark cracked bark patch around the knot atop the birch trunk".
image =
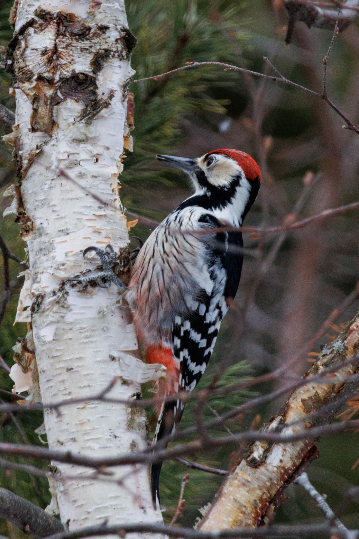
POLYGON ((95 75, 113 58, 127 60, 136 40, 125 27, 88 24, 75 13, 38 8, 33 15, 15 31, 9 50, 16 89, 32 105, 31 128, 50 134, 54 107, 66 99, 85 105, 82 120, 101 110, 110 92, 99 92, 95 75))

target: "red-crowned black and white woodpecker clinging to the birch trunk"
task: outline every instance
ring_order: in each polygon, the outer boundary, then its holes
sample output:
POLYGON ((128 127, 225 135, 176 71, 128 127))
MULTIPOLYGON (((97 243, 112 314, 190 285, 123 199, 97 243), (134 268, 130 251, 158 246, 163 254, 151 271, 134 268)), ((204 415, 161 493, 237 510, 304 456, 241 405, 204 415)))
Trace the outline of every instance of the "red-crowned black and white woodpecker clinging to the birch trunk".
MULTIPOLYGON (((166 381, 159 396, 193 391, 207 367, 224 315, 241 278, 243 240, 239 229, 261 186, 261 171, 243 151, 217 149, 188 159, 157 155, 192 181, 194 194, 158 225, 140 249, 132 267, 125 298, 147 363, 162 363, 166 381)), ((123 285, 110 271, 111 246, 95 250, 104 271, 74 281, 104 279, 123 285)), ((100 284, 100 282, 98 283, 100 284)), ((184 403, 180 399, 158 406, 152 442, 174 432, 184 403)), ((159 502, 161 463, 151 466, 154 507, 159 502)))

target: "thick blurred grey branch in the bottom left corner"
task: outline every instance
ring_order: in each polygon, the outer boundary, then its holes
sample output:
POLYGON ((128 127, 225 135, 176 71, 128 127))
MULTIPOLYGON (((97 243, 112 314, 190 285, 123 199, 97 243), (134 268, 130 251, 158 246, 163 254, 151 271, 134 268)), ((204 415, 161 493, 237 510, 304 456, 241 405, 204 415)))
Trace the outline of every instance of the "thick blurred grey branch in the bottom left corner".
POLYGON ((0 517, 35 537, 47 537, 65 531, 54 516, 6 488, 0 488, 0 517))

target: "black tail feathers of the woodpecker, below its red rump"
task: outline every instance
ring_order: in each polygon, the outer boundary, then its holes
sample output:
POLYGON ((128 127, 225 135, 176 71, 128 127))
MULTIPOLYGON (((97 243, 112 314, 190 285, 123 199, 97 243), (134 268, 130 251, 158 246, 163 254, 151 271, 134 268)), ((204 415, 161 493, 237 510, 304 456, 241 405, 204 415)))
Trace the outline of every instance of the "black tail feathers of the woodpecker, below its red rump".
MULTIPOLYGON (((158 417, 156 432, 152 442, 152 451, 156 451, 156 445, 160 440, 171 434, 173 426, 178 425, 184 410, 184 403, 164 403, 158 417)), ((167 444, 161 444, 161 449, 166 449, 167 444)), ((159 497, 159 476, 161 472, 162 462, 153 462, 151 465, 151 492, 153 507, 157 508, 157 500, 160 503, 159 497)))

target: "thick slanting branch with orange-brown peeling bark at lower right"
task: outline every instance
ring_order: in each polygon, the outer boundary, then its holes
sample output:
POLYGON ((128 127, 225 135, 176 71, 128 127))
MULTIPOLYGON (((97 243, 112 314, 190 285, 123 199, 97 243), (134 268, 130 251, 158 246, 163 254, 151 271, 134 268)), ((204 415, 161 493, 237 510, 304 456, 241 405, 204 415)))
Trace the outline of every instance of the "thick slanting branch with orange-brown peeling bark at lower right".
MULTIPOLYGON (((342 404, 342 400, 337 404, 337 399, 351 395, 358 384, 357 381, 350 382, 350 377, 359 371, 359 363, 347 364, 328 373, 321 383, 311 383, 311 377, 354 359, 358 351, 359 313, 336 340, 322 350, 306 374, 308 384, 295 389, 277 416, 262 430, 285 436, 330 423, 342 404)), ((275 508, 283 501, 284 487, 313 456, 316 456, 314 440, 251 444, 245 458, 238 462, 222 486, 199 526, 200 531, 255 528, 266 523, 273 506, 275 508)))

